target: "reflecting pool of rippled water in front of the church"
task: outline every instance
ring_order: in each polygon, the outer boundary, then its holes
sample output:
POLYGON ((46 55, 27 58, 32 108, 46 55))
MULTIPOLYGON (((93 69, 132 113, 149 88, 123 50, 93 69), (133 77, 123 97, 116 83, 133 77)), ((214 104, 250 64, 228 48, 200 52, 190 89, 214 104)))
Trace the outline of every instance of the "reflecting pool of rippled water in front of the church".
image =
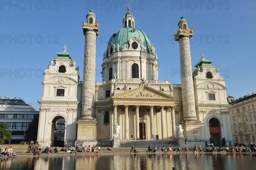
POLYGON ((255 170, 256 154, 101 153, 0 158, 0 170, 255 170))

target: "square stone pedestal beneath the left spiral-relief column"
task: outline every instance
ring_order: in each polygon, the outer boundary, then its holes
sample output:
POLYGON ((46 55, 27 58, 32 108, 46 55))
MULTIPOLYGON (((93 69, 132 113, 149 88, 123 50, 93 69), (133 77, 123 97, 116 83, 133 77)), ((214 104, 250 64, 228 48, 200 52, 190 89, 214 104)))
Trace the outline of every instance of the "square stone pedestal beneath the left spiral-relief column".
POLYGON ((97 144, 97 124, 98 122, 77 122, 77 140, 79 144, 91 145, 97 144))

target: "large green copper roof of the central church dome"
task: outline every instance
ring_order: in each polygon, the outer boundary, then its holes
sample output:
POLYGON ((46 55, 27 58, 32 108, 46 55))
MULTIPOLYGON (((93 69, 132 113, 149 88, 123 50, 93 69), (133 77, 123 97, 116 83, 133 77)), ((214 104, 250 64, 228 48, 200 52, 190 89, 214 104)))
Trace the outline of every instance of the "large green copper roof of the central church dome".
POLYGON ((117 47, 117 44, 119 44, 119 50, 122 51, 122 45, 128 44, 128 41, 134 37, 136 37, 138 40, 141 41, 140 47, 145 45, 147 51, 149 51, 148 48, 152 46, 152 42, 149 40, 149 37, 145 34, 144 31, 137 28, 131 28, 131 27, 122 28, 120 31, 114 33, 110 37, 108 41, 108 45, 112 43, 117 47))

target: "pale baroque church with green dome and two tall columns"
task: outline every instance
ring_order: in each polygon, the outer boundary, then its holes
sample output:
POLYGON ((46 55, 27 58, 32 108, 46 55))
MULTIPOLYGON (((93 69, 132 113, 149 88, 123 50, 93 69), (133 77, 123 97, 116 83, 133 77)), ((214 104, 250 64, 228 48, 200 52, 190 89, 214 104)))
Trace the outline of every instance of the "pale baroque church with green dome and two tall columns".
POLYGON ((179 124, 184 137, 177 137, 187 145, 202 145, 210 138, 215 145, 222 138, 233 142, 225 80, 203 54, 192 71, 193 29, 184 17, 175 35, 180 45, 181 85, 158 79, 156 49, 145 32, 135 27, 130 8, 123 28, 111 36, 103 53, 102 82, 95 82, 99 23, 92 10, 86 18, 82 79, 65 46, 44 73, 43 96, 38 101, 41 145, 55 146, 60 141, 109 145, 115 139, 113 145, 119 147, 122 140, 170 140, 177 136, 179 124), (58 131, 59 126, 63 130, 58 131))

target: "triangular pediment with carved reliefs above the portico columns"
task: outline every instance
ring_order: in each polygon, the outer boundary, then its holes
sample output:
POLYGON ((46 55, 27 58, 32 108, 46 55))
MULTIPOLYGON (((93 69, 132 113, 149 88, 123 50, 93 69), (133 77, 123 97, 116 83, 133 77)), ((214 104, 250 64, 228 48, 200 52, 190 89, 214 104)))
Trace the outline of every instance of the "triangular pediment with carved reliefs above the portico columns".
POLYGON ((154 88, 148 86, 141 86, 134 88, 133 90, 112 97, 113 100, 164 100, 164 101, 176 101, 175 97, 165 94, 161 91, 157 91, 154 88))

